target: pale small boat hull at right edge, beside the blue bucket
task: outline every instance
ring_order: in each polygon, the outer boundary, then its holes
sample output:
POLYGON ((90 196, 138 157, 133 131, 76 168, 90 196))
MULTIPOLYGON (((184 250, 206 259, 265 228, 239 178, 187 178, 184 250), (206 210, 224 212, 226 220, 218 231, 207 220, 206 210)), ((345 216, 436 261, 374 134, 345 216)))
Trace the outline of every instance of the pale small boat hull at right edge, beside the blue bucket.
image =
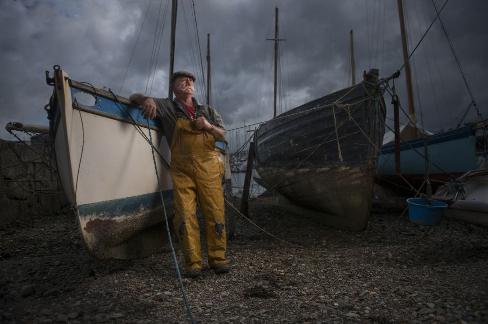
POLYGON ((447 218, 488 227, 488 169, 470 170, 441 185, 432 199, 447 203, 447 218))

